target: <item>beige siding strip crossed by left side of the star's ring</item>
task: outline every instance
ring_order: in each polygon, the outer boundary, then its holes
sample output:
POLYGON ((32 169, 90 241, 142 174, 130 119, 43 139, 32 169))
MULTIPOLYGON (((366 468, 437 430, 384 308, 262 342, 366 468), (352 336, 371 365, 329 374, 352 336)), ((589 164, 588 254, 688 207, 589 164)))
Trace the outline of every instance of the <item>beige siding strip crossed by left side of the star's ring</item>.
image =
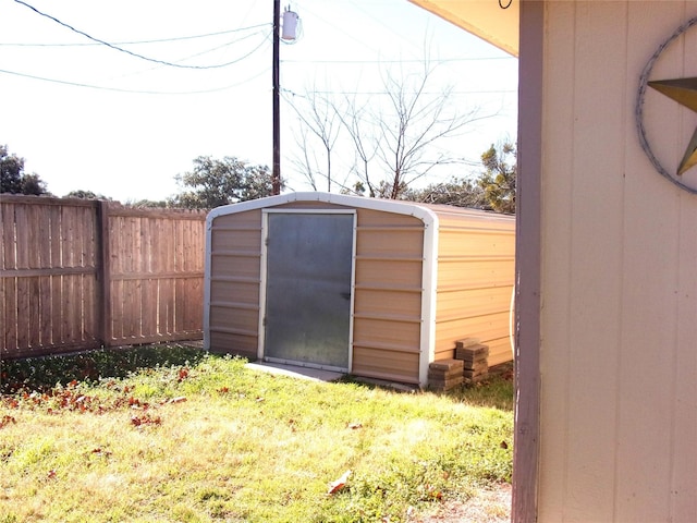
MULTIPOLYGON (((633 52, 628 62, 638 72, 659 44, 683 22, 683 13, 667 10, 659 3, 634 5, 629 2, 629 41, 637 44, 631 48, 633 52)), ((682 57, 664 52, 655 69, 653 76, 659 76, 651 80, 664 78, 664 73, 675 77, 682 73, 681 65, 682 57)), ((631 80, 626 89, 634 99, 638 74, 631 80)), ((663 105, 661 97, 656 95, 658 93, 647 93, 649 110, 663 105)), ((676 104, 668 104, 661 112, 663 118, 647 114, 645 119, 649 126, 647 131, 660 130, 655 133, 656 139, 649 136, 649 141, 658 151, 668 151, 669 157, 672 151, 674 156, 682 157, 684 134, 675 125, 681 111, 676 104)), ((673 446, 670 427, 674 426, 673 401, 678 386, 675 363, 680 351, 676 313, 681 191, 667 183, 652 168, 646 169, 647 160, 638 144, 631 145, 635 154, 627 159, 629 183, 624 206, 625 259, 622 273, 625 283, 619 376, 616 519, 668 521, 673 446)))

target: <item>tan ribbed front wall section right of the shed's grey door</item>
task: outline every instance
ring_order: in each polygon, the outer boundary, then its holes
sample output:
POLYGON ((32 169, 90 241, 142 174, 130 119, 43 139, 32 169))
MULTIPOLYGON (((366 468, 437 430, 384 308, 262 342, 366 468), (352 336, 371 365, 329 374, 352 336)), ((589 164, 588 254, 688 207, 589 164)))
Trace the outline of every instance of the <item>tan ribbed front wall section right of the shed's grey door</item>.
POLYGON ((358 209, 353 373, 418 382, 424 223, 358 209))

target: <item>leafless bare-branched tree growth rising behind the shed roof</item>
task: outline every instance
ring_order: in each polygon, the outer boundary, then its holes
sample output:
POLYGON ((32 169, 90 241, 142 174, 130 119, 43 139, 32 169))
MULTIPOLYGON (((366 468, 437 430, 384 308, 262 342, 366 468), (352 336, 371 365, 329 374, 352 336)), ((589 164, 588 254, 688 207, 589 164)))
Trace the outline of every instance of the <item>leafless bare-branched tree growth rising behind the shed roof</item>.
MULTIPOLYGON (((353 155, 350 173, 357 178, 351 185, 347 179, 334 184, 344 192, 367 191, 370 196, 396 199, 418 179, 427 177, 436 167, 463 162, 438 146, 444 138, 453 138, 464 132, 468 124, 488 115, 475 108, 457 111, 452 104, 452 87, 433 93, 437 65, 424 61, 416 73, 399 74, 387 70, 382 78, 381 98, 387 104, 376 104, 372 96, 363 102, 356 97, 344 96, 341 102, 329 96, 308 94, 303 106, 295 106, 303 126, 319 138, 326 155, 328 190, 332 187, 332 154, 339 127, 351 137, 353 155), (387 98, 386 98, 387 97, 387 98)), ((310 172, 311 153, 307 134, 298 146, 302 165, 310 172)), ((307 174, 306 174, 306 178, 307 174)), ((313 183, 314 177, 309 177, 313 183)), ((315 187, 316 184, 313 184, 315 187)))

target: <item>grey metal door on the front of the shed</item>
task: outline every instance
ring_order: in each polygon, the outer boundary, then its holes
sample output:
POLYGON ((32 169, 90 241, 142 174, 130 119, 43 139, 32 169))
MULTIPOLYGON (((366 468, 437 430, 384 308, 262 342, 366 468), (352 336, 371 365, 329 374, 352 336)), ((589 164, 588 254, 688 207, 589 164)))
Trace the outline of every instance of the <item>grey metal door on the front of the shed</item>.
POLYGON ((267 360, 348 370, 353 220, 268 215, 267 360))

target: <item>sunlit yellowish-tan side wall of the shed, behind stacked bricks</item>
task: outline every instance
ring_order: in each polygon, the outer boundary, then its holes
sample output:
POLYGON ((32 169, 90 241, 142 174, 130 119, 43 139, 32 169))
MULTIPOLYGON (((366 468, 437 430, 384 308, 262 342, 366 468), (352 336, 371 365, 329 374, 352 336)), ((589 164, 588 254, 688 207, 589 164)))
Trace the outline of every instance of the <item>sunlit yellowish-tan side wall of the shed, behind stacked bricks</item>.
POLYGON ((511 294, 515 219, 439 214, 436 360, 454 356, 455 341, 489 345, 489 365, 513 358, 511 294))

